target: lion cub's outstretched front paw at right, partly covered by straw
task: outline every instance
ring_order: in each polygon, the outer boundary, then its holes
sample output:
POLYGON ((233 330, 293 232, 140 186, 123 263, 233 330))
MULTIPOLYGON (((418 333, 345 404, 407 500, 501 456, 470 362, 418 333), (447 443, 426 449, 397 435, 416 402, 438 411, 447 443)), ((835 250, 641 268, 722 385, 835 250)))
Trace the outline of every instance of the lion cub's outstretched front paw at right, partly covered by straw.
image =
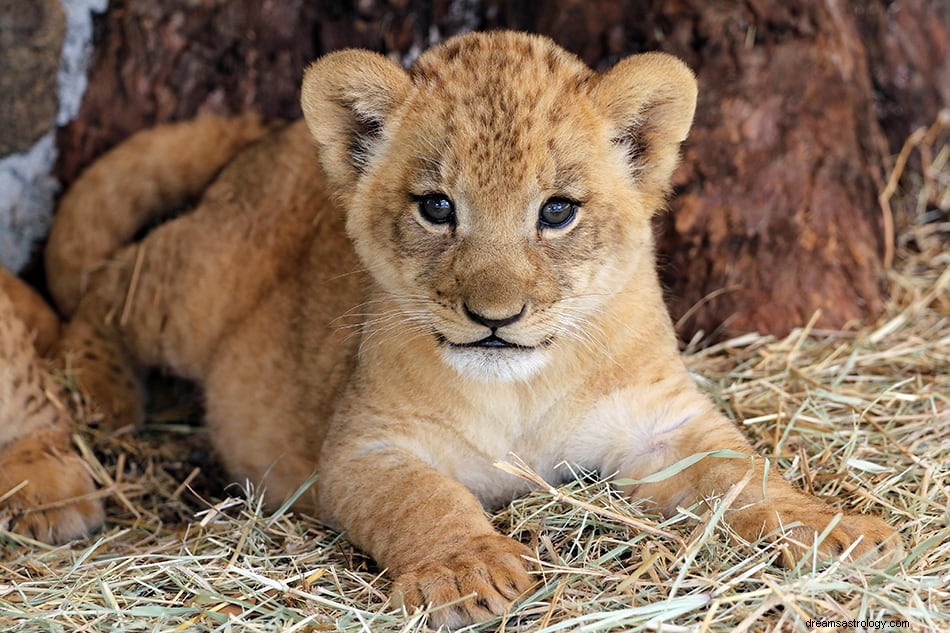
MULTIPOLYGON (((784 532, 787 547, 783 549, 782 564, 792 567, 798 560, 811 556, 816 540, 836 514, 818 499, 801 495, 767 500, 739 510, 729 521, 739 534, 749 539, 763 533, 784 532)), ((817 551, 819 556, 830 559, 840 557, 849 549, 851 559, 876 566, 886 566, 903 553, 900 535, 887 523, 875 516, 845 513, 825 535, 817 551)))

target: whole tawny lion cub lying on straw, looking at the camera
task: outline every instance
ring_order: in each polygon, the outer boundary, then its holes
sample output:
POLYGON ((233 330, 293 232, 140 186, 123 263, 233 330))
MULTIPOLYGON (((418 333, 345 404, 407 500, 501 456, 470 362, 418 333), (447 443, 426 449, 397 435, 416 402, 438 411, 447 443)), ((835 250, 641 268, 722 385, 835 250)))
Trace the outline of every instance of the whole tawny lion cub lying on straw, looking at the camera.
MULTIPOLYGON (((596 73, 519 33, 456 37, 408 70, 332 53, 306 73, 304 122, 166 126, 80 179, 47 258, 74 312, 64 353, 120 422, 141 415, 139 368, 197 380, 233 477, 278 504, 319 472, 296 507, 369 552, 398 601, 459 601, 433 624, 491 618, 532 582, 483 510, 527 488, 496 461, 639 480, 752 454, 687 374, 654 270, 650 218, 695 103, 668 55, 596 73)), ((672 512, 750 463, 729 522, 750 539, 788 526, 801 553, 836 511, 763 482, 760 459, 629 493, 672 512)), ((891 535, 845 515, 821 549, 891 535)))

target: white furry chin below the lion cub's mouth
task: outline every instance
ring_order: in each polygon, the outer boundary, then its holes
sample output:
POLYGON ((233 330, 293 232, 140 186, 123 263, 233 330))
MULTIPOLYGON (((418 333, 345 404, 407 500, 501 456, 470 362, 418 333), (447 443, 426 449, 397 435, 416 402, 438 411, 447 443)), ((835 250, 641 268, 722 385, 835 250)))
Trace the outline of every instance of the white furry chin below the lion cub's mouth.
POLYGON ((547 364, 549 354, 539 348, 480 348, 442 346, 442 359, 463 378, 477 382, 528 380, 547 364))

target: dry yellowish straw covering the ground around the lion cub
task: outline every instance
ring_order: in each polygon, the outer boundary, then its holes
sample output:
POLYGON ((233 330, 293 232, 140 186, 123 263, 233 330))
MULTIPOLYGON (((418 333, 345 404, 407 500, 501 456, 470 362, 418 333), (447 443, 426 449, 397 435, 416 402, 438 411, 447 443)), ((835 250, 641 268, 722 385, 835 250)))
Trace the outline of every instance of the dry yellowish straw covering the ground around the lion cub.
MULTIPOLYGON (((774 543, 737 542, 715 501, 663 520, 579 472, 495 515, 537 553, 543 583, 478 630, 804 631, 812 619, 950 630, 950 222, 933 210, 948 198, 948 152, 916 179, 925 222, 902 233, 878 323, 688 350, 696 378, 774 467, 842 509, 883 515, 906 556, 884 570, 846 560, 783 570, 774 543)), ((136 435, 77 438, 111 493, 109 524, 57 548, 3 534, 0 629, 424 628, 422 614, 389 607, 389 580, 340 535, 264 513, 252 491, 222 498, 204 431, 180 421, 192 415, 166 410, 136 435)))

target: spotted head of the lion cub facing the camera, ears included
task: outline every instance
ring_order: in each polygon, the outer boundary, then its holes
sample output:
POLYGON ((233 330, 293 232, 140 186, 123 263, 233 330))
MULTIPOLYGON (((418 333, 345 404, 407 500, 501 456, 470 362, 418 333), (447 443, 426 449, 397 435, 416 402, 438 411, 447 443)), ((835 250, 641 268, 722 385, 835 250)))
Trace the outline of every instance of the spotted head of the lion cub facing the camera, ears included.
POLYGON ((356 250, 463 375, 522 379, 653 266, 696 102, 673 57, 598 74, 550 40, 452 38, 408 70, 367 51, 307 71, 303 111, 356 250))

